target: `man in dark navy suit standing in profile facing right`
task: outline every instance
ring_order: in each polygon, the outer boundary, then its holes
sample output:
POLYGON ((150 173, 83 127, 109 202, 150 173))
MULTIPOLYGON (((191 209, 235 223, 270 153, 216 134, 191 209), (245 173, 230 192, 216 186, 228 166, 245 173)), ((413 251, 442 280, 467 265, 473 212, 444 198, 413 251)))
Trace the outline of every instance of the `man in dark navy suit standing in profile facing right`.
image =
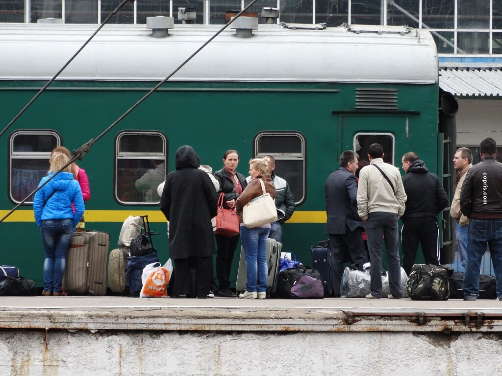
MULTIPOLYGON (((340 286, 343 256, 348 252, 353 264, 362 269, 368 262, 362 243, 363 222, 357 214, 357 170, 359 156, 355 151, 346 150, 340 155, 340 168, 326 180, 326 234, 335 259, 334 285, 340 286)), ((335 297, 340 291, 334 292, 335 297)))

